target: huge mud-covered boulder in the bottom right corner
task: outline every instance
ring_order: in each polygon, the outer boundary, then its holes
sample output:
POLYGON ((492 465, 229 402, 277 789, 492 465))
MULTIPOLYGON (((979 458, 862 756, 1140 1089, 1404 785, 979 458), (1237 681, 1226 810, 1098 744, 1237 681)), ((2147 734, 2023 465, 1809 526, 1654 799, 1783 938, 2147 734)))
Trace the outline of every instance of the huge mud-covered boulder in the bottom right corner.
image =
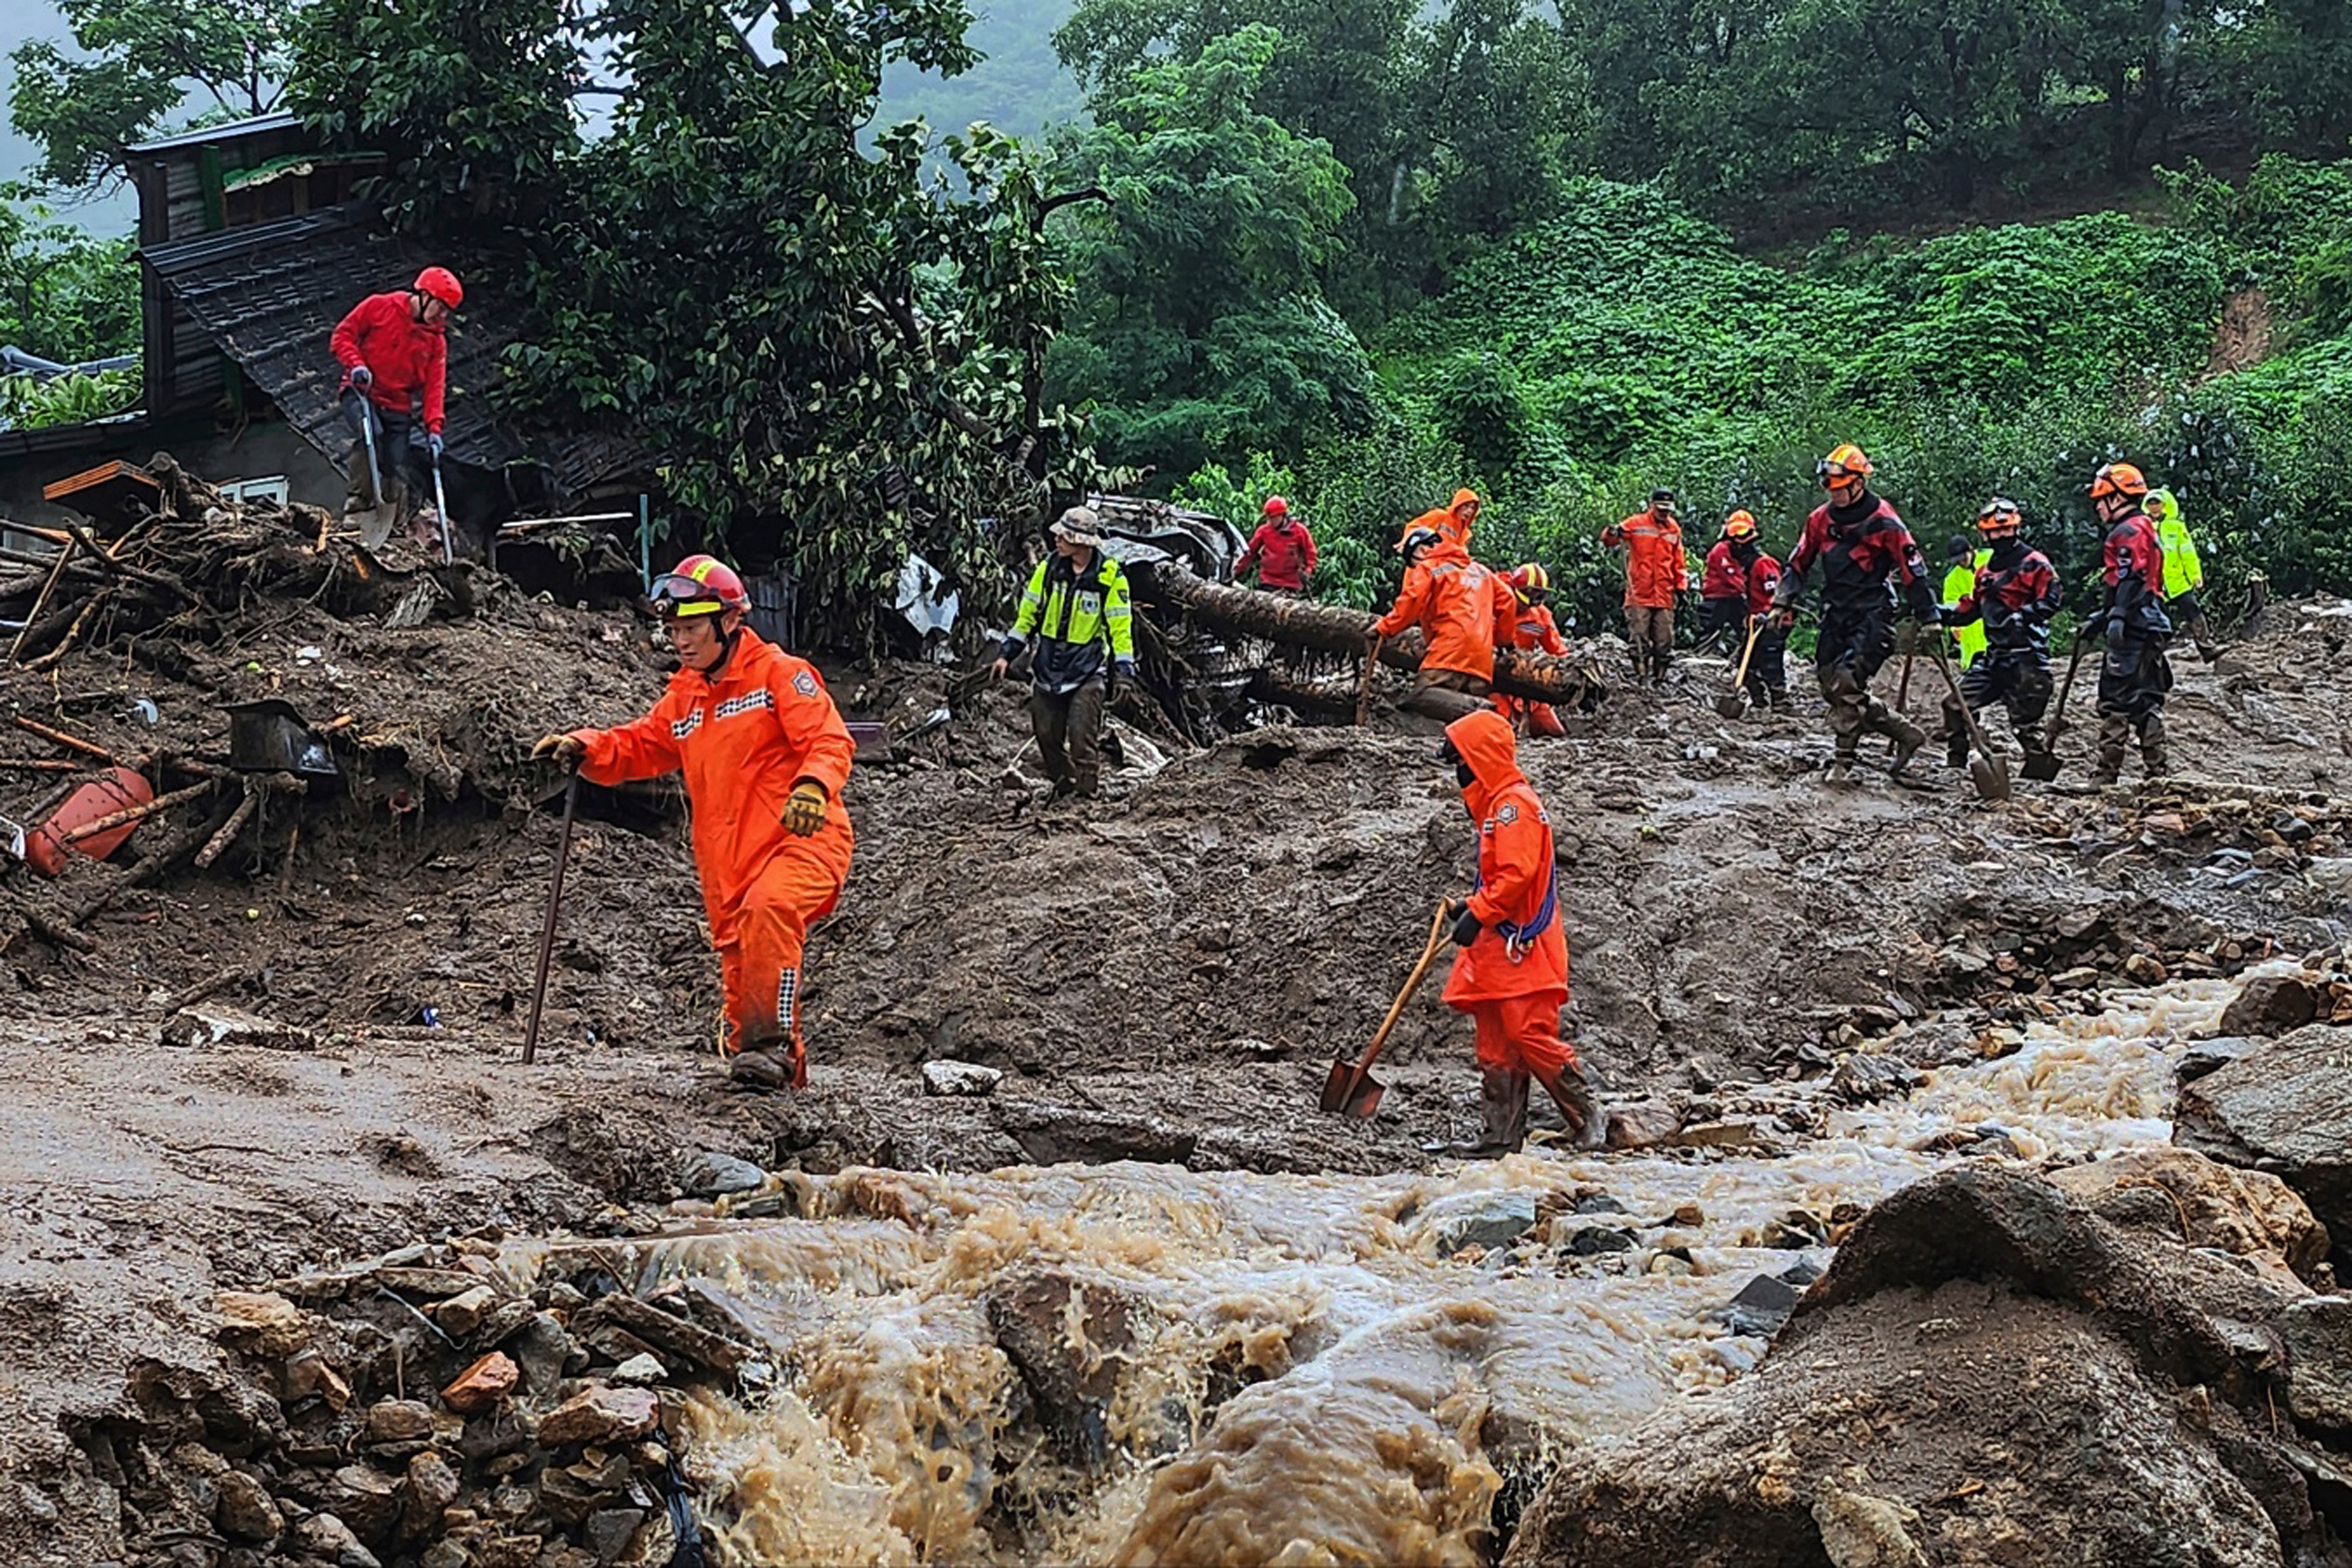
POLYGON ((1752 1378, 1564 1467, 1505 1568, 2347 1561, 2267 1415, 2305 1295, 1947 1171, 1856 1227, 1752 1378))

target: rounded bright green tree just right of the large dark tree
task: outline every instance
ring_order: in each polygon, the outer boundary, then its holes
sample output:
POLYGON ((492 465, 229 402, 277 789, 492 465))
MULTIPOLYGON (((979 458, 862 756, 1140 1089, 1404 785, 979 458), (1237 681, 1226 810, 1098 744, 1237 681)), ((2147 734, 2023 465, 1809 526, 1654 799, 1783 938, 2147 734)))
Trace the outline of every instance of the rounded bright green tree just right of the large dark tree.
POLYGON ((1063 181, 1110 202, 1070 219, 1080 303, 1049 386, 1096 400, 1120 461, 1171 477, 1305 451, 1369 418, 1364 350, 1317 287, 1348 172, 1258 108, 1279 47, 1247 26, 1145 66, 1063 148, 1063 181))

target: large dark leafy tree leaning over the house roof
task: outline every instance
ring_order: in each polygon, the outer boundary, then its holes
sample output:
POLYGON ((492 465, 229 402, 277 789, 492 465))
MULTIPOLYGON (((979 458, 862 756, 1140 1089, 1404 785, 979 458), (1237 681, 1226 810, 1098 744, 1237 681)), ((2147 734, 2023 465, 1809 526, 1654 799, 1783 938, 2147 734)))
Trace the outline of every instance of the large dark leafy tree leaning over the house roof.
POLYGON ((541 0, 487 19, 482 0, 407 0, 395 21, 379 0, 315 9, 296 61, 313 125, 407 148, 388 190, 407 223, 482 209, 466 233, 527 306, 496 400, 663 454, 673 510, 746 564, 781 559, 811 632, 870 632, 908 550, 1000 588, 988 520, 1103 480, 1082 423, 1044 400, 1068 299, 1047 219, 1087 193, 1051 190, 985 127, 946 141, 967 197, 927 174, 920 125, 858 148, 887 61, 971 63, 960 0, 612 0, 579 40, 614 61, 612 87, 576 75, 541 0), (369 26, 379 68, 346 82, 336 40, 369 26), (456 63, 452 38, 487 47, 456 63), (459 96, 517 118, 445 141, 459 68, 482 75, 459 96), (553 78, 614 96, 607 136, 520 115, 553 78))

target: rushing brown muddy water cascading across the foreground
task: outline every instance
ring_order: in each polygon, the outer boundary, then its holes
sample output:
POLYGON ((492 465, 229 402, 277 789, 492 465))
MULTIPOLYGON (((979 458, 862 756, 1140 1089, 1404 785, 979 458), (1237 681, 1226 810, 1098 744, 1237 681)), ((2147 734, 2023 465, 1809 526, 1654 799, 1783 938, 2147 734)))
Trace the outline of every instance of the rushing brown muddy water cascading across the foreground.
POLYGON ((715 1286, 786 1349, 767 1394, 694 1406, 722 1561, 1475 1563, 1508 1481, 1757 1363, 1722 1309, 1825 1265, 1809 1227, 1955 1159, 2166 1143, 2180 1041, 2232 992, 2112 992, 1875 1107, 1759 1088, 1811 1107, 1780 1157, 795 1175, 807 1218, 623 1267, 715 1286), (1446 1255, 1529 1204, 1515 1244, 1446 1255))

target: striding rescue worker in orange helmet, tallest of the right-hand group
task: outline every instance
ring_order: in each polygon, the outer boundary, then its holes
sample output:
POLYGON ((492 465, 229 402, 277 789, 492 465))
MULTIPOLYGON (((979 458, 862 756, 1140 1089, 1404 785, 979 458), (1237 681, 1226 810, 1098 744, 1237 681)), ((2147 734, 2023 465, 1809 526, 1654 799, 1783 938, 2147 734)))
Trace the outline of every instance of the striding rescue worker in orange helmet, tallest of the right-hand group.
POLYGON ((1926 557, 1919 541, 1903 527, 1896 508, 1870 491, 1870 458, 1860 447, 1839 447, 1816 465, 1828 503, 1804 520, 1804 534, 1780 574, 1773 595, 1773 625, 1788 630, 1797 621, 1804 578, 1820 562, 1820 642, 1813 649, 1813 675, 1830 703, 1830 731, 1837 757, 1830 783, 1853 778, 1853 755, 1863 731, 1896 743, 1891 773, 1900 776, 1926 745, 1926 731, 1870 693, 1896 646, 1896 585, 1905 609, 1919 625, 1943 623, 1936 592, 1926 581, 1926 557))

